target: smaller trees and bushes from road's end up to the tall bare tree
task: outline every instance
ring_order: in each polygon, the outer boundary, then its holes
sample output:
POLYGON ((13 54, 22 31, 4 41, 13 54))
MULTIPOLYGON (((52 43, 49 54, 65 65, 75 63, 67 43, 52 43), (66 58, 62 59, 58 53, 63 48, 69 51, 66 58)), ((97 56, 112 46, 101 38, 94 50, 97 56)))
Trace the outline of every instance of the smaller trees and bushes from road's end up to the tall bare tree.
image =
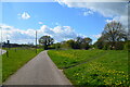
POLYGON ((47 49, 89 49, 92 42, 92 39, 89 37, 81 38, 77 37, 76 39, 69 39, 62 42, 53 44, 54 39, 50 36, 42 36, 39 39, 39 44, 47 49))

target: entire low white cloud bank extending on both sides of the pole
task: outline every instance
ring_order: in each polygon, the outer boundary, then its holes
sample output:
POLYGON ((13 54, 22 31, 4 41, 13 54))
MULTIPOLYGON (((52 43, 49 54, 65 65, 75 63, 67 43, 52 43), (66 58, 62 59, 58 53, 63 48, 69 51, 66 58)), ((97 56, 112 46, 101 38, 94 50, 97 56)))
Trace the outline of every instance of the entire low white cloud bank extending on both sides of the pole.
MULTIPOLYGON (((23 30, 9 25, 0 25, 0 27, 2 28, 2 41, 5 41, 8 37, 8 39, 10 39, 11 42, 17 44, 35 42, 36 29, 23 30)), ((37 29, 37 33, 38 38, 44 35, 49 35, 53 37, 55 41, 74 39, 77 36, 83 37, 83 35, 78 35, 70 26, 55 26, 53 28, 50 28, 47 25, 42 25, 39 29, 37 29)))

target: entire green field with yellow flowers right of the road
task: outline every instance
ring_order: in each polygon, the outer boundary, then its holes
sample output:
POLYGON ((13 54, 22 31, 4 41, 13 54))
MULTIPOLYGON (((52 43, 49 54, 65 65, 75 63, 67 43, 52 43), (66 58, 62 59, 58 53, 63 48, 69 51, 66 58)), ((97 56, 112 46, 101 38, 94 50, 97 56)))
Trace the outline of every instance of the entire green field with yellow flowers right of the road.
POLYGON ((50 50, 49 55, 60 69, 69 66, 64 73, 74 85, 129 85, 125 50, 50 50))

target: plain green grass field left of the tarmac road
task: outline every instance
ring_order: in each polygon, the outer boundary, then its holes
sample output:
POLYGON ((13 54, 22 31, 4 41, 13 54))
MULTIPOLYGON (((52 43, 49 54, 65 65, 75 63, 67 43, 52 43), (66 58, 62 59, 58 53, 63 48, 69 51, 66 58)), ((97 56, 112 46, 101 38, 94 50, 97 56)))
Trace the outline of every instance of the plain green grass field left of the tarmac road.
MULTIPOLYGON (((37 54, 40 51, 42 51, 42 49, 38 49, 37 54)), ((2 82, 37 54, 35 49, 17 48, 16 52, 14 49, 10 49, 9 58, 6 58, 5 53, 2 55, 2 82)))

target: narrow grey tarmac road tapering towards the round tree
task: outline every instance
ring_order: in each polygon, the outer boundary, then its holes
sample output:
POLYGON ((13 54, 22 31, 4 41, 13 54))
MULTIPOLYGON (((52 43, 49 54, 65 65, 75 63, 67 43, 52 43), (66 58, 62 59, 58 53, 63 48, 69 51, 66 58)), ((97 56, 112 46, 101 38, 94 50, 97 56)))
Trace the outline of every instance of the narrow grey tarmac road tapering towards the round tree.
POLYGON ((47 52, 40 52, 10 76, 3 85, 72 85, 47 52))

